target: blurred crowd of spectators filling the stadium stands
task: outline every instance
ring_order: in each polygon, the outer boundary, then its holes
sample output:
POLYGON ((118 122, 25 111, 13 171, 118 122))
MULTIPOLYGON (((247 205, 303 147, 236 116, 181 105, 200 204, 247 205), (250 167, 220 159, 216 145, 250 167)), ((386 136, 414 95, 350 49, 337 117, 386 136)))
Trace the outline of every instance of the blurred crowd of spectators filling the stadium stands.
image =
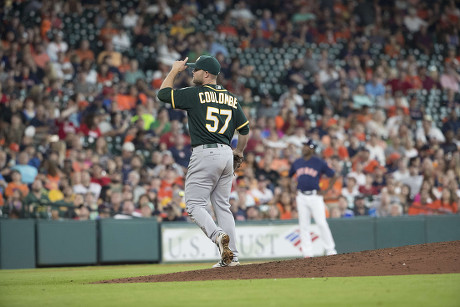
POLYGON ((457 214, 458 2, 268 2, 5 1, 2 217, 186 221, 187 118, 156 92, 201 54, 250 121, 237 220, 297 217, 307 137, 341 174, 329 217, 457 214))

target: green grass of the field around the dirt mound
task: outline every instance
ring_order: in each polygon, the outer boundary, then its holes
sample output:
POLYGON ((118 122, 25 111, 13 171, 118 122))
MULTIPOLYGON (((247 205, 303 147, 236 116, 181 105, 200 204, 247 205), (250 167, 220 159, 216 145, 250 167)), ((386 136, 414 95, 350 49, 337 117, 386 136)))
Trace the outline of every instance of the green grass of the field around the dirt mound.
POLYGON ((149 284, 89 282, 209 268, 125 265, 0 271, 0 306, 459 306, 460 274, 149 284))

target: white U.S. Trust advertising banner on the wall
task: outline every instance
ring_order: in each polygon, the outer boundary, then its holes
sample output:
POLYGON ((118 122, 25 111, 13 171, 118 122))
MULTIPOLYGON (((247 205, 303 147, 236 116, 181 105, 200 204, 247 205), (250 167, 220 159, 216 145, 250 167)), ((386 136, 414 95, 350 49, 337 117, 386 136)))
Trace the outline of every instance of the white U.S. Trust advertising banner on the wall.
MULTIPOLYGON (((237 248, 239 259, 299 258, 299 226, 290 225, 248 225, 237 226, 237 248)), ((316 225, 311 227, 313 252, 324 255, 316 225)), ((198 227, 184 225, 179 228, 162 227, 163 262, 214 261, 219 252, 198 227)))

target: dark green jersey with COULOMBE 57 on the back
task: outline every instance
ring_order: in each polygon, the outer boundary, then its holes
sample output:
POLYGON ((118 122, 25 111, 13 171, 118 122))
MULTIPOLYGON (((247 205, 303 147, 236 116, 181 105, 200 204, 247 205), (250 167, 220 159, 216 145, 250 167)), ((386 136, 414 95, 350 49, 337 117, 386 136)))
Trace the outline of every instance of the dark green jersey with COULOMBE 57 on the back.
POLYGON ((173 90, 164 88, 158 98, 174 109, 187 111, 192 146, 227 144, 235 130, 246 135, 249 122, 235 95, 220 85, 206 84, 173 90))

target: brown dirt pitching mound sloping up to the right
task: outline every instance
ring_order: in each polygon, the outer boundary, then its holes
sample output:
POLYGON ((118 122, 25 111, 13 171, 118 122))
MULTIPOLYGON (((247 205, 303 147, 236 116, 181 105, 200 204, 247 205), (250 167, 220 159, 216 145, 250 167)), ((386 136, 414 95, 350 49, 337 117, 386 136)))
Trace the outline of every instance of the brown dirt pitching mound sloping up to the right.
POLYGON ((327 257, 130 277, 99 283, 460 273, 459 251, 460 241, 429 243, 327 257))

